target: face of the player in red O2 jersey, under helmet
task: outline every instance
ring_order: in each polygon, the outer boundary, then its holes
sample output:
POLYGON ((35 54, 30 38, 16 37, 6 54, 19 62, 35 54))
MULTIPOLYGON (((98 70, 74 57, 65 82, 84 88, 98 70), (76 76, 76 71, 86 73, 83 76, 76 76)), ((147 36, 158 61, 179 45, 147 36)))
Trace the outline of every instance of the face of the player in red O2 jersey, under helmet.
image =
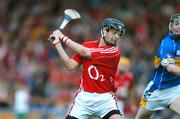
POLYGON ((121 38, 122 32, 118 31, 116 29, 110 29, 106 35, 105 35, 105 40, 111 45, 116 45, 117 41, 121 38))

